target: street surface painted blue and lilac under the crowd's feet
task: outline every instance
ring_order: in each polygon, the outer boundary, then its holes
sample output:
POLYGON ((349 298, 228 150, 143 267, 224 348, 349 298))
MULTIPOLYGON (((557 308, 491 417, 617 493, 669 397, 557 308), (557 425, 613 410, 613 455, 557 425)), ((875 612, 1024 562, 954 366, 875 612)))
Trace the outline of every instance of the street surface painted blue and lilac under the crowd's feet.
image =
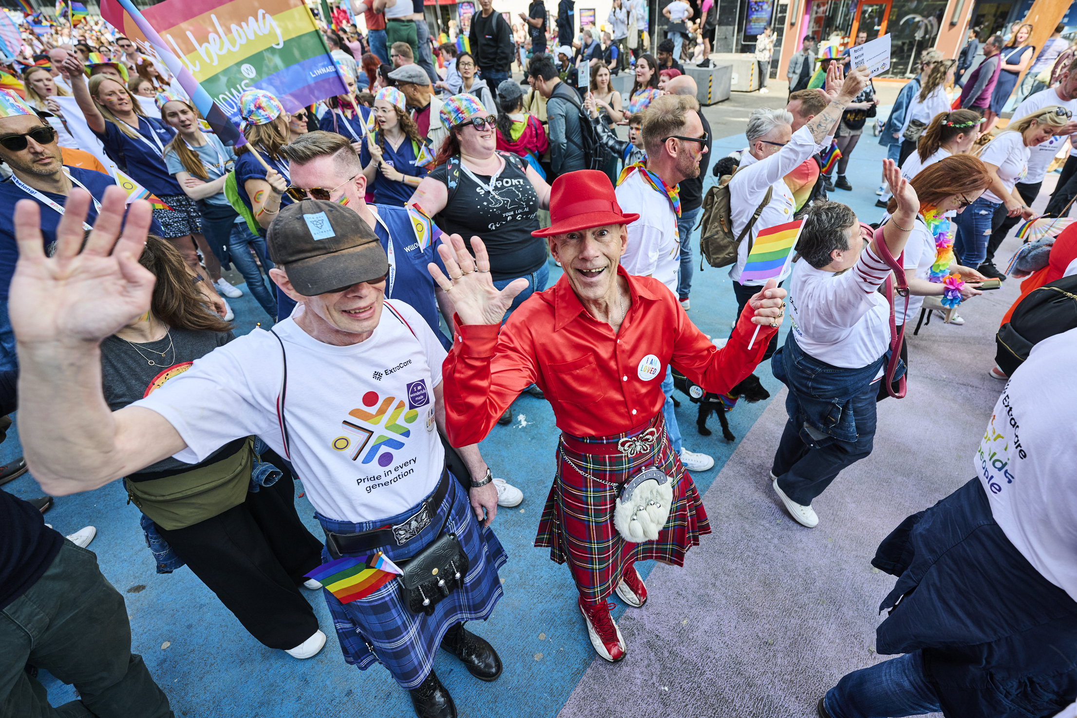
MULTIPOLYGON (((764 96, 735 95, 707 109, 716 156, 744 146, 741 132, 752 108, 782 105, 784 87, 772 81, 771 89, 764 96)), ((853 192, 834 196, 868 222, 880 214, 873 193, 883 156, 877 138, 866 135, 850 165, 853 192)), ((1036 209, 1057 177, 1048 175, 1036 209)), ((999 266, 1017 244, 1007 240, 999 266)), ((700 272, 698 259, 695 266, 688 315, 703 332, 725 336, 736 310, 726 271, 700 272)), ((550 269, 556 281, 560 272, 550 269)), ((973 477, 973 452, 1003 386, 988 376, 994 334, 1018 294, 1017 280, 1007 281, 962 306, 964 326, 935 320, 909 337, 908 396, 880 405, 875 453, 816 499, 820 525, 813 530, 787 517, 767 477, 785 422, 784 390, 769 365, 757 374, 772 398, 736 407, 729 414, 737 435, 731 444, 718 431, 699 436, 695 406, 682 397, 677 418, 685 446, 715 457, 713 469, 694 477, 714 533, 688 553, 684 568, 642 566, 651 593, 645 608, 626 608, 614 599, 628 642, 628 658, 616 665, 596 658, 568 568, 532 547, 554 475, 557 430, 545 402, 519 398, 513 424, 495 426, 481 445, 494 475, 526 494, 493 524, 509 555, 501 574, 505 597, 489 621, 468 627, 498 648, 505 671, 495 684, 482 684, 443 654, 435 670, 460 715, 814 716, 820 695, 845 672, 885 659, 875 652, 875 629, 882 620, 877 608, 894 578, 875 572, 869 561, 907 515, 973 477)), ((249 294, 232 305, 237 333, 266 319, 249 294)), ((717 423, 712 417, 711 427, 717 430, 717 423)), ((20 453, 14 428, 0 449, 0 460, 20 453)), ((4 490, 40 494, 29 475, 4 490)), ((297 495, 302 491, 297 483, 297 495)), ((300 517, 320 536, 309 503, 296 501, 300 517)), ((46 520, 64 533, 98 527, 90 548, 123 593, 135 651, 177 716, 414 715, 386 671, 360 672, 344 663, 318 593, 306 595, 328 643, 317 657, 297 661, 255 642, 186 568, 155 575, 138 511, 118 483, 57 498, 46 520)), ((45 682, 54 705, 74 698, 70 687, 48 677, 45 682)))

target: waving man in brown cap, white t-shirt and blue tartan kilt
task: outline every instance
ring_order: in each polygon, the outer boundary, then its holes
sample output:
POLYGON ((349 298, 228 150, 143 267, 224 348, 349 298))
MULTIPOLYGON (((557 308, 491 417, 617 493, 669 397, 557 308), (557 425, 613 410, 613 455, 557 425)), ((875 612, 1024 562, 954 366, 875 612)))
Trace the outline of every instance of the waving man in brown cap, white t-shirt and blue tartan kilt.
MULTIPOLYGON (((312 188, 306 192, 314 195, 312 188)), ((326 563, 304 578, 325 588, 347 662, 360 670, 383 666, 409 691, 420 718, 456 716, 452 698, 433 672, 439 649, 481 680, 502 672, 493 647, 464 628, 465 621, 488 618, 502 596, 498 569, 507 557, 489 530, 498 491, 489 469, 481 479, 471 477, 468 491, 446 468, 438 431, 445 348, 418 311, 384 298, 391 269, 375 231, 337 202, 303 199, 282 208, 268 231, 277 264, 269 273, 300 306, 271 332, 254 329, 220 346, 139 402, 110 412, 100 382, 88 379, 100 377, 99 342, 149 310, 154 284, 132 258, 144 242, 150 207, 132 203, 118 239, 124 198, 118 189, 106 194, 101 219, 82 250, 93 261, 82 263, 71 262, 80 253, 90 205, 82 189, 72 191, 60 217, 55 257, 44 255, 38 228, 46 210, 26 201, 14 210, 23 256, 14 279, 20 304, 11 305, 12 324, 24 333, 19 339, 40 337, 62 351, 76 347, 76 353, 85 349, 80 361, 89 366, 88 374, 65 369, 42 381, 58 355, 50 349, 27 354, 22 375, 30 380, 27 400, 50 424, 74 411, 87 420, 86 427, 106 426, 92 434, 108 455, 124 455, 123 462, 98 463, 93 459, 98 454, 84 452, 60 465, 31 440, 24 446, 36 478, 40 468, 53 493, 86 491, 164 456, 196 464, 230 441, 261 436, 303 477, 325 532, 326 563), (28 271, 31 265, 41 269, 28 271), (72 291, 68 281, 89 293, 72 291), (80 306, 94 307, 96 323, 56 321, 89 316, 80 306), (93 396, 65 392, 60 402, 46 398, 53 381, 88 382, 93 396), (446 553, 431 555, 435 541, 446 553), (369 555, 387 561, 368 566, 372 575, 362 581, 350 580, 354 562, 335 562, 369 555), (437 564, 444 572, 439 583, 419 576, 404 587, 396 564, 407 571, 405 561, 418 557, 444 561, 437 564)), ((19 410, 32 419, 32 409, 19 410)), ((296 648, 310 656, 324 642, 318 632, 296 648)))

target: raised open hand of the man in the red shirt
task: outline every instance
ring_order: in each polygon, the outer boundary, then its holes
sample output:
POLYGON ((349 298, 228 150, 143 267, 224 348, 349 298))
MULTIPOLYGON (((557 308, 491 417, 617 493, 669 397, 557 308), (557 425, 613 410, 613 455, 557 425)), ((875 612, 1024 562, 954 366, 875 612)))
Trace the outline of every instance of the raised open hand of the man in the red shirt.
POLYGON ((472 237, 472 257, 460 235, 442 237, 437 253, 445 263, 446 277, 433 262, 426 265, 437 285, 449 294, 463 324, 500 324, 516 295, 528 288, 528 280, 514 280, 498 290, 490 279, 490 257, 478 237, 472 237))

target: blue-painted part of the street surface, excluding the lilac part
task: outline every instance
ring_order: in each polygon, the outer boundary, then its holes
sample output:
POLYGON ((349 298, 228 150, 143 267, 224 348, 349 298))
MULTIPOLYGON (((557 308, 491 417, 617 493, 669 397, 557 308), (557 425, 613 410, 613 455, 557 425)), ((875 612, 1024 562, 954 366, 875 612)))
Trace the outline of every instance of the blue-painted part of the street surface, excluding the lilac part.
MULTIPOLYGON (((718 105, 709 109, 708 114, 721 111, 718 105)), ((743 136, 716 139, 713 152, 721 157, 745 144, 743 136)), ((877 138, 865 136, 849 170, 850 181, 857 188, 853 193, 839 191, 835 197, 849 202, 867 221, 873 221, 880 212, 871 206, 879 181, 879 159, 883 156, 877 138)), ((708 185, 713 182, 708 177, 708 185)), ((708 267, 700 273, 698 264, 695 269, 688 315, 703 332, 727 336, 736 301, 726 270, 708 267)), ((559 276, 560 270, 551 266, 550 281, 559 276)), ((230 304, 236 311, 237 333, 249 332, 255 322, 266 320, 246 292, 230 304)), ((760 366, 757 374, 764 385, 777 393, 780 383, 771 376, 769 364, 760 366)), ((683 398, 677 418, 685 446, 715 459, 714 468, 694 475, 702 494, 737 442, 722 438, 714 417, 709 424, 714 435, 699 436, 695 430, 696 407, 683 398)), ((738 441, 765 406, 741 403, 729 416, 738 441)), ((568 568, 549 561, 546 550, 532 546, 554 475, 557 430, 553 413, 545 402, 523 395, 514 405, 514 414, 513 425, 495 426, 481 450, 494 475, 522 489, 526 498, 516 509, 502 509, 493 524, 509 555, 501 573, 505 596, 489 621, 470 627, 498 648, 505 671, 496 684, 488 686, 443 653, 435 671, 452 693, 461 716, 556 716, 596 660, 576 609, 577 594, 568 568)), ((8 441, 0 446, 0 461, 19 453, 17 433, 11 431, 8 441)), ((296 487, 296 492, 302 492, 302 484, 296 487)), ((29 475, 4 490, 27 498, 41 495, 29 475)), ((299 516, 320 536, 310 518, 309 503, 306 498, 296 502, 299 516)), ((407 695, 386 671, 375 666, 360 672, 345 664, 320 593, 307 593, 307 597, 328 642, 317 657, 297 661, 254 640, 186 568, 156 575, 138 526, 138 511, 126 505, 126 494, 118 483, 58 497, 46 521, 64 533, 86 524, 97 526, 90 549, 97 553, 101 571, 127 602, 134 650, 142 654, 178 716, 285 717, 316 712, 325 718, 414 715, 407 695)), ((649 569, 649 565, 641 565, 644 578, 649 569)), ((615 616, 623 611, 624 606, 619 606, 615 616)), ((43 679, 54 705, 74 699, 71 687, 45 675, 43 679)), ((616 690, 611 691, 611 700, 618 695, 616 690)), ((601 714, 599 706, 596 708, 601 714)))

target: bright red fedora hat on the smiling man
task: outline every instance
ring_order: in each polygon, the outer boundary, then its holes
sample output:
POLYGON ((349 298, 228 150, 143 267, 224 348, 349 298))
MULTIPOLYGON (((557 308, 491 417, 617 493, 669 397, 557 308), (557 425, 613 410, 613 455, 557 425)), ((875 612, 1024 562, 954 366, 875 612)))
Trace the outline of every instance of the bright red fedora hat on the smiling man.
POLYGON ((532 231, 533 237, 553 237, 568 231, 629 224, 639 214, 625 214, 605 172, 582 169, 554 180, 549 192, 550 226, 532 231))

